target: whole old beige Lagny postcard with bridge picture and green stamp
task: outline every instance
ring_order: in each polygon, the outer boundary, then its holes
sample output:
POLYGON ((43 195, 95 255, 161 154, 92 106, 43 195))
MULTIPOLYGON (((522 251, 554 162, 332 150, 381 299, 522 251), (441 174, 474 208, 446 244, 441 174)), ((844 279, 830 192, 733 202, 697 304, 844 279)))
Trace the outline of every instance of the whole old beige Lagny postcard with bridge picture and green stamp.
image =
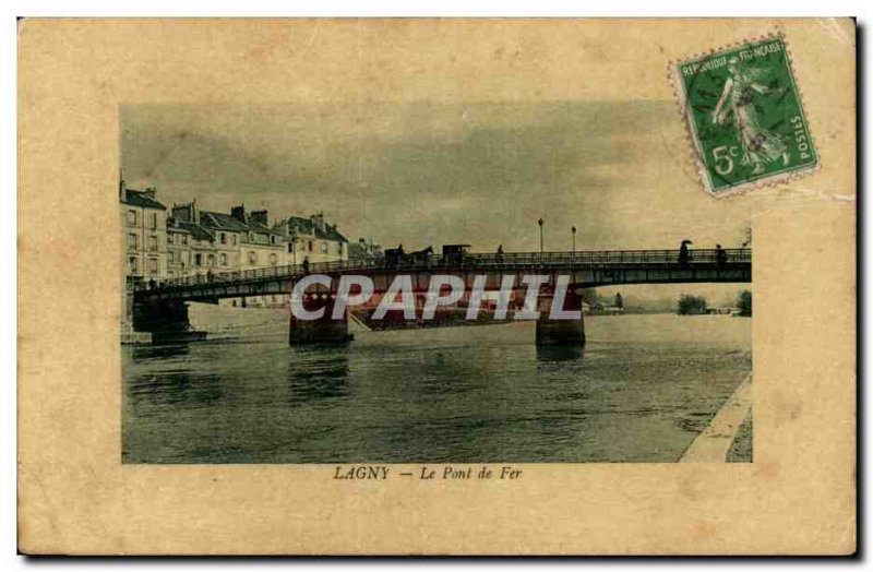
POLYGON ((22 552, 854 552, 854 21, 19 28, 22 552))

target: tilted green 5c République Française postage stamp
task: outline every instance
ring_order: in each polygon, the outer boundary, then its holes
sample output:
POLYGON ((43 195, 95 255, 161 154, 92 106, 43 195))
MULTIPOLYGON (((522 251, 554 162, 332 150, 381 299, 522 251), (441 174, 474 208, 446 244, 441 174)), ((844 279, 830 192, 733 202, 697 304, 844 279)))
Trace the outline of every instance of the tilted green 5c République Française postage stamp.
POLYGON ((723 195, 818 164, 780 36, 671 67, 706 189, 723 195))

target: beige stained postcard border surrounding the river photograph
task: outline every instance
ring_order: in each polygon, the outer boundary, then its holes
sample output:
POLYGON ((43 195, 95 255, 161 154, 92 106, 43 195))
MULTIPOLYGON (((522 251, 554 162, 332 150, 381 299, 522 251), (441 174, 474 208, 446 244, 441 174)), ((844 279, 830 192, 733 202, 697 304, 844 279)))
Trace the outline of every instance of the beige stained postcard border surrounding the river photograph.
MULTIPOLYGON (((854 550, 851 21, 24 20, 19 26, 22 551, 854 550), (336 481, 330 466, 121 465, 119 104, 356 100, 363 92, 388 100, 429 93, 453 100, 667 100, 662 51, 777 25, 792 37, 804 105, 827 128, 818 129, 820 176, 736 198, 750 201, 755 241, 753 464, 521 465, 524 477, 515 481, 438 486, 336 481), (607 40, 639 58, 636 82, 609 84, 599 75, 590 58, 607 40), (485 48, 501 43, 526 51, 515 62, 489 60, 482 73, 485 48), (415 45, 429 49, 410 50, 415 45), (597 82, 571 81, 569 71, 586 65, 597 82), (410 75, 418 69, 442 75, 410 75), (538 81, 522 81, 531 76, 538 81)), ((684 135, 677 128, 666 136, 684 135)), ((651 207, 651 198, 642 200, 651 207)))

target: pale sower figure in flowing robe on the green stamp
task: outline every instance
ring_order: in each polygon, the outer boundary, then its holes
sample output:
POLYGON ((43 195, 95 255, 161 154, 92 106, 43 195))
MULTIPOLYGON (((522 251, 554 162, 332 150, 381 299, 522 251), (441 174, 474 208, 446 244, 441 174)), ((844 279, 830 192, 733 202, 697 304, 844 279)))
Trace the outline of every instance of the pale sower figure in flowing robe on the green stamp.
POLYGON ((730 116, 742 145, 742 164, 752 167, 752 175, 763 172, 765 164, 780 158, 787 166, 790 158, 788 147, 777 133, 761 127, 755 111, 755 94, 776 92, 755 81, 758 70, 740 70, 737 58, 728 61, 728 72, 730 75, 713 111, 713 124, 725 126, 730 116))

